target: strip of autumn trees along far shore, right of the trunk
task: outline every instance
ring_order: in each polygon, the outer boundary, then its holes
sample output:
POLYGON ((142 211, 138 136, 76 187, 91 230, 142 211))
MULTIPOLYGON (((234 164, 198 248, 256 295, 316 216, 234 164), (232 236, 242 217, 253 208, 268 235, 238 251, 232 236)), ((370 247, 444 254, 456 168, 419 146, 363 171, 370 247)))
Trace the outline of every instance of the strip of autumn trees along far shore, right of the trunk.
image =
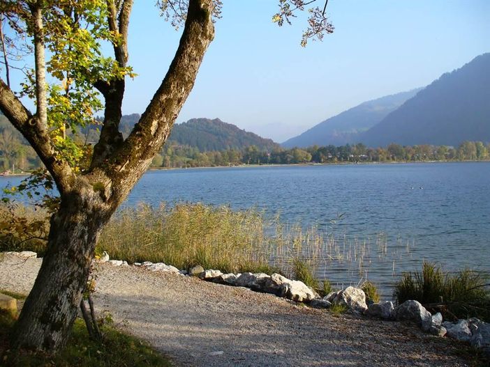
POLYGON ((152 163, 154 168, 236 166, 241 164, 305 164, 305 163, 361 163, 361 162, 424 162, 488 160, 490 143, 464 141, 452 146, 401 146, 368 148, 364 144, 346 146, 311 146, 310 148, 274 148, 260 150, 248 146, 241 150, 214 150, 200 152, 198 148, 171 143, 164 146, 152 163))

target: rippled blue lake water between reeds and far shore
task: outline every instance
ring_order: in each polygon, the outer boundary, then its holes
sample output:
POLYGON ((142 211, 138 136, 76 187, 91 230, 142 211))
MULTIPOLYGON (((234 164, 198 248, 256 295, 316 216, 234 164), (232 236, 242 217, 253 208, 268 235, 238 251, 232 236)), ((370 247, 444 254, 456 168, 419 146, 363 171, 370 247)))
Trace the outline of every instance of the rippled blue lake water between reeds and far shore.
POLYGON ((124 205, 162 201, 255 206, 318 226, 336 238, 320 278, 346 286, 367 276, 385 297, 422 260, 490 271, 490 162, 149 171, 124 205))

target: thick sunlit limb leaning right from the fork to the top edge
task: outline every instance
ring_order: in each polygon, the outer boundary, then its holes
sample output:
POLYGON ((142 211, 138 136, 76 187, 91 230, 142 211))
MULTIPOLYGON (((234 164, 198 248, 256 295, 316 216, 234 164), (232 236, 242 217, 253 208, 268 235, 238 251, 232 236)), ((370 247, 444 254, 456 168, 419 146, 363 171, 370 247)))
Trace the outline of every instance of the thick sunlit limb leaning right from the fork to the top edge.
POLYGON ((214 38, 212 10, 212 0, 189 1, 184 32, 165 79, 128 139, 110 156, 110 166, 105 170, 115 176, 114 203, 124 199, 128 188, 146 171, 191 93, 202 58, 214 38))

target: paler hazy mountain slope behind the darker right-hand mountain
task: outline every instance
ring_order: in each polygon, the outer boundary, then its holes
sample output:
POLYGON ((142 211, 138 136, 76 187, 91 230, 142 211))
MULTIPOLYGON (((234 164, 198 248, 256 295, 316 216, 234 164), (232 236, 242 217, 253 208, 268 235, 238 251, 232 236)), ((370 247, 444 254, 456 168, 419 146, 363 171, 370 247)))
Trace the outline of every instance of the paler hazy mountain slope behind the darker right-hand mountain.
POLYGON ((369 130, 369 128, 379 123, 418 91, 420 91, 420 88, 364 102, 347 111, 343 111, 339 115, 328 118, 281 145, 285 148, 293 148, 295 146, 307 147, 315 144, 319 146, 327 146, 329 144, 343 146, 346 143, 354 143, 358 139, 360 132, 369 130))

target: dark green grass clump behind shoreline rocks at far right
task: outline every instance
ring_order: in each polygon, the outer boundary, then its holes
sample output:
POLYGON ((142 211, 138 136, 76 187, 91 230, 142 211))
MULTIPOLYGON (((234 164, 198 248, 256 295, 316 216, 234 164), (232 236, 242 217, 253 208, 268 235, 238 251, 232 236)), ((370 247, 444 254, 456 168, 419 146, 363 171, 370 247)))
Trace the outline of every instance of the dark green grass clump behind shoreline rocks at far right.
POLYGON ((401 304, 415 299, 429 308, 437 308, 457 318, 477 317, 490 320, 488 277, 465 269, 454 274, 443 272, 433 263, 424 262, 418 270, 403 274, 396 283, 394 297, 401 304))

